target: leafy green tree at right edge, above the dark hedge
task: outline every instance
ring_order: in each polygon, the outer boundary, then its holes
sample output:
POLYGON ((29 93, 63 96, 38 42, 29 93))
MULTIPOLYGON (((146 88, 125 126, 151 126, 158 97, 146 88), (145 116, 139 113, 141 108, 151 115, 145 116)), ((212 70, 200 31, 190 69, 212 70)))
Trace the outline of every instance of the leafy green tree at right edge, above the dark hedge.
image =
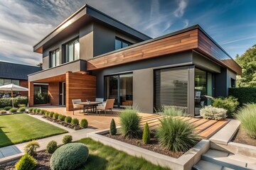
POLYGON ((252 45, 243 55, 237 55, 235 61, 242 67, 242 76, 238 77, 237 85, 256 87, 256 45, 252 45))

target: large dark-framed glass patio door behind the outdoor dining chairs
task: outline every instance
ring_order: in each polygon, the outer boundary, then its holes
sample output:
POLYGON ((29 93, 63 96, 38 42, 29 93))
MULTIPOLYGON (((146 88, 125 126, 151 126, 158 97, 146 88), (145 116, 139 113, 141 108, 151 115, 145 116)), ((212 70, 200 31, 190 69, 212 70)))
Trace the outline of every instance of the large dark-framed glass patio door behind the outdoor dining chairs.
POLYGON ((119 74, 105 77, 106 98, 115 98, 114 106, 125 108, 132 106, 133 76, 132 74, 119 74))

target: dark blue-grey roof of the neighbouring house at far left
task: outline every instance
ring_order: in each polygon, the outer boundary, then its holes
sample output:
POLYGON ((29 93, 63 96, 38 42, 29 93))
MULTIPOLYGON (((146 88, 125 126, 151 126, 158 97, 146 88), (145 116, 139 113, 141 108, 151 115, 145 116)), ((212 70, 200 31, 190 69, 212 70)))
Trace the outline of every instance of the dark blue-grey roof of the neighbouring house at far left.
POLYGON ((14 64, 10 62, 0 62, 1 79, 28 79, 28 74, 41 71, 41 67, 14 64))

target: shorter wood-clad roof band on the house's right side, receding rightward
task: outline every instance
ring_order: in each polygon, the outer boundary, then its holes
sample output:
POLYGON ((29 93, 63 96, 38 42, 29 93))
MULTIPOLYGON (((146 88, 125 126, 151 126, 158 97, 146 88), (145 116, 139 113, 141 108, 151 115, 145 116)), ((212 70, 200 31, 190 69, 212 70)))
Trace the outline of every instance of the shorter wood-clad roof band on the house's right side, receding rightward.
POLYGON ((215 43, 207 37, 201 30, 198 30, 198 49, 204 55, 212 58, 213 60, 220 62, 225 67, 232 69, 238 74, 242 74, 242 69, 240 66, 232 60, 220 47, 215 45, 215 43))

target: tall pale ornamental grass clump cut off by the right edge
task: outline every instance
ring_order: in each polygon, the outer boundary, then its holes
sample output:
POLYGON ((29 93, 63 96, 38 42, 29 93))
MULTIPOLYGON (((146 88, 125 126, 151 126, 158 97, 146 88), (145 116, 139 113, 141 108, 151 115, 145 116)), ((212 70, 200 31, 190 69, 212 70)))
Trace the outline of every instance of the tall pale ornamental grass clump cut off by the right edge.
POLYGON ((240 120, 241 128, 245 130, 247 135, 256 139, 256 104, 247 104, 240 108, 235 118, 240 120))

